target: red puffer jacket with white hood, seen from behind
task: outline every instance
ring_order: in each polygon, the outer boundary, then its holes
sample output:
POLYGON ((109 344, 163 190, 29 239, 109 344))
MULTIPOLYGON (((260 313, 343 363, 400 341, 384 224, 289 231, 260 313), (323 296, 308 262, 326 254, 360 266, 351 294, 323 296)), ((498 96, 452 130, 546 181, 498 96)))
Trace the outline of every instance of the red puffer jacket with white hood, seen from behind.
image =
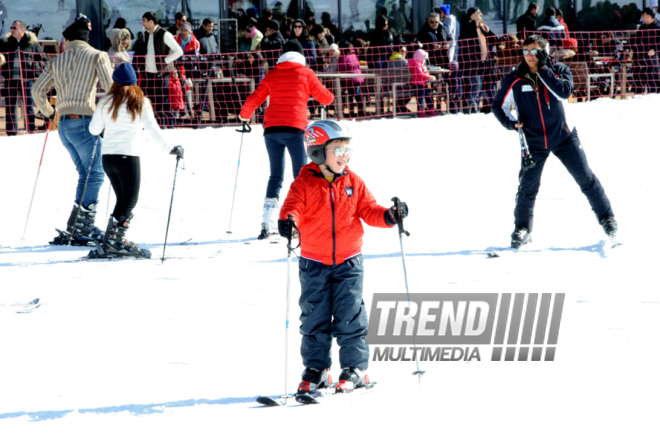
POLYGON ((275 68, 268 72, 259 87, 245 100, 241 117, 252 117, 254 110, 270 96, 264 128, 285 126, 305 130, 309 95, 323 105, 330 105, 334 96, 304 63, 305 58, 297 52, 282 55, 275 68))

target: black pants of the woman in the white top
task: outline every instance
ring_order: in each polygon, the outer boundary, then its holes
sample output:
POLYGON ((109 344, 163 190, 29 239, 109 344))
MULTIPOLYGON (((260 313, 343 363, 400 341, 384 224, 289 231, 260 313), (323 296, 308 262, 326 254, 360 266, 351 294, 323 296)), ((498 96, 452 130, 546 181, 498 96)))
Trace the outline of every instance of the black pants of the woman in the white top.
POLYGON ((103 169, 117 198, 112 216, 119 222, 130 220, 140 195, 140 157, 104 155, 103 169))

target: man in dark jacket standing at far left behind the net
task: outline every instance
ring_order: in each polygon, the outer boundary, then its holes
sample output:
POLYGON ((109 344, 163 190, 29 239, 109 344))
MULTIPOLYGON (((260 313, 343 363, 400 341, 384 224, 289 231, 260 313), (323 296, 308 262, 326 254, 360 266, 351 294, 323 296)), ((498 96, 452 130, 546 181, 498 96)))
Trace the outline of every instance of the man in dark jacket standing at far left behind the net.
POLYGON ((1 72, 5 78, 2 96, 5 98, 5 131, 8 136, 15 136, 18 131, 16 105, 19 98, 26 103, 28 113, 26 128, 28 132, 35 132, 34 101, 31 90, 47 61, 37 36, 27 32, 26 27, 22 21, 14 21, 11 32, 2 38, 0 46, 0 53, 6 53, 7 58, 1 72))

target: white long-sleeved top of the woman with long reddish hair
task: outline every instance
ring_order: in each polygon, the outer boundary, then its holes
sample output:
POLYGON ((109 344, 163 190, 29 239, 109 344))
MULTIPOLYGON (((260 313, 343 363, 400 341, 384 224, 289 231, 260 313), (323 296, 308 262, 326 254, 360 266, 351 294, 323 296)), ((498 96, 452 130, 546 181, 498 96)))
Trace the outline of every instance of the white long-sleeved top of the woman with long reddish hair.
POLYGON ((103 155, 130 155, 139 156, 136 146, 139 143, 138 133, 144 128, 147 134, 160 146, 163 151, 169 153, 172 149, 163 138, 158 122, 154 117, 149 99, 144 99, 142 105, 142 117, 131 121, 131 115, 126 110, 126 103, 122 104, 117 113, 117 121, 113 122, 110 105, 110 96, 106 95, 99 101, 94 116, 89 124, 89 132, 95 136, 105 130, 103 136, 103 155))

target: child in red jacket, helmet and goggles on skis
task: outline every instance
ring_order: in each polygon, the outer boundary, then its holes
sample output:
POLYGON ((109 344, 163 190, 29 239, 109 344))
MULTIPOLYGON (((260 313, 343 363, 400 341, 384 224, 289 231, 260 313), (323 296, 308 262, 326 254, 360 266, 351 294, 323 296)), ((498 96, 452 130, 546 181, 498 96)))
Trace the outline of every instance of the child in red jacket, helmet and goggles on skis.
POLYGON ((300 231, 300 348, 303 364, 298 393, 314 394, 332 383, 332 337, 339 344, 342 368, 335 390, 345 392, 369 384, 367 311, 362 300, 362 221, 393 227, 408 207, 379 206, 360 177, 346 166, 352 148, 348 128, 324 120, 305 131, 307 156, 280 210, 280 235, 290 238, 293 222, 300 231), (334 319, 333 319, 334 318, 334 319))

